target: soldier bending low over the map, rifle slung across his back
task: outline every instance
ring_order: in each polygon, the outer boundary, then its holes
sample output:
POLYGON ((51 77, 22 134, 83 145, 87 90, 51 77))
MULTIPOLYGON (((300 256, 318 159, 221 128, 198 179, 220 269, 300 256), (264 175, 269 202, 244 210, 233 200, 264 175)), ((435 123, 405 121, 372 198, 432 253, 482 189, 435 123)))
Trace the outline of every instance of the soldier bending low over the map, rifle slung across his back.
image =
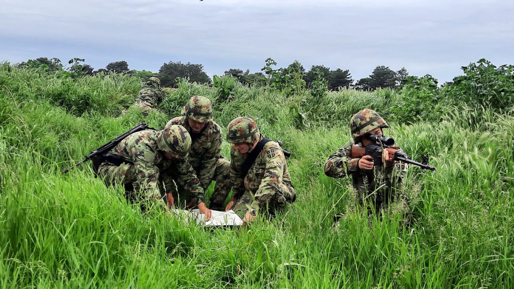
POLYGON ((123 183, 142 192, 139 200, 163 200, 166 186, 166 203, 173 205, 175 184, 170 176, 173 173, 177 183, 194 197, 200 213, 211 216, 204 203, 204 190, 188 161, 191 136, 180 125, 170 125, 161 131, 144 130, 124 138, 104 156, 98 168, 98 175, 106 185, 123 183))

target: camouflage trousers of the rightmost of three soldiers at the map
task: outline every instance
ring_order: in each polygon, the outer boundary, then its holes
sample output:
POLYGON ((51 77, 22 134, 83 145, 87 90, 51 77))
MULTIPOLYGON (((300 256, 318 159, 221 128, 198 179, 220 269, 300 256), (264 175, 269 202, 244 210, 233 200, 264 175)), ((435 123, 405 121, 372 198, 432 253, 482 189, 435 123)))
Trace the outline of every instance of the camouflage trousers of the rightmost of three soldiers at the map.
MULTIPOLYGON (((259 208, 251 209, 259 209, 261 212, 267 212, 273 216, 276 212, 283 210, 287 204, 295 202, 295 200, 295 188, 291 183, 284 182, 282 184, 282 190, 274 193, 267 204, 260 204, 259 208)), ((245 193, 236 201, 232 210, 243 219, 245 211, 250 209, 250 205, 253 201, 255 201, 254 193, 246 190, 245 193)))

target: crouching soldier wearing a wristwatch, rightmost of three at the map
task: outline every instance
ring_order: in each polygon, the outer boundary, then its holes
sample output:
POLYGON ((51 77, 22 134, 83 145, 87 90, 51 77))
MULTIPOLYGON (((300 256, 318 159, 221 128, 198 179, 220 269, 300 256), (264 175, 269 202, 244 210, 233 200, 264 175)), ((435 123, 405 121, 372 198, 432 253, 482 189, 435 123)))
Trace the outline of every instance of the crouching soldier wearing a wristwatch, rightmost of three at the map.
POLYGON ((226 210, 234 211, 245 223, 254 220, 259 211, 274 214, 296 200, 295 188, 287 162, 276 141, 265 138, 253 119, 238 117, 230 122, 227 141, 230 150, 232 201, 226 210), (235 205, 234 205, 235 203, 235 205))

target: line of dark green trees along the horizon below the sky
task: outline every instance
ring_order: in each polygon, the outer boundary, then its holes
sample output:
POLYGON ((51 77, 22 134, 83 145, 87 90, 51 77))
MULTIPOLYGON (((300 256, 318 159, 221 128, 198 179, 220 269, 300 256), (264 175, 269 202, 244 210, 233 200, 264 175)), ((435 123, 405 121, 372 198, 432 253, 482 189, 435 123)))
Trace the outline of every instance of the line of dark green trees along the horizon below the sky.
MULTIPOLYGON (((204 66, 201 64, 182 63, 180 61, 163 63, 157 73, 148 70, 129 69, 126 61, 115 61, 107 64, 105 68, 95 70, 91 65, 86 64, 84 59, 74 58, 68 61, 70 66, 62 64, 57 58, 36 58, 18 64, 19 67, 38 67, 47 71, 65 71, 71 76, 93 76, 100 73, 130 74, 146 80, 151 76, 157 76, 161 80, 161 85, 175 87, 177 79, 185 78, 191 82, 212 83, 211 78, 205 73, 204 66)), ((287 67, 273 68, 277 63, 271 58, 266 60, 266 65, 261 69, 263 72, 250 73, 239 68, 231 68, 225 71, 225 76, 236 78, 244 85, 270 85, 271 83, 287 82, 288 78, 297 78, 297 82, 302 80, 306 88, 313 88, 316 79, 326 82, 328 90, 337 90, 339 87, 353 87, 360 90, 373 91, 376 88, 397 88, 402 85, 409 75, 407 69, 401 68, 394 71, 388 66, 377 66, 369 77, 355 81, 348 69, 331 69, 324 65, 313 65, 307 71, 303 65, 295 60, 287 67)), ((316 85, 316 84, 315 84, 316 85)))

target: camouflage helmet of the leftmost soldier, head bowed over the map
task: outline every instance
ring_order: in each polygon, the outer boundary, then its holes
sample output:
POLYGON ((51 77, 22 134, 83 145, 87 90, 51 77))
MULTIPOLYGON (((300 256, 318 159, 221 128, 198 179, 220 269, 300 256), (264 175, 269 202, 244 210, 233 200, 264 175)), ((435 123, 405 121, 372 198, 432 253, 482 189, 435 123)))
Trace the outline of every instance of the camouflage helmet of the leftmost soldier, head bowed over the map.
POLYGON ((178 158, 184 158, 191 148, 191 136, 181 125, 170 125, 160 131, 157 147, 163 152, 178 154, 178 158))

